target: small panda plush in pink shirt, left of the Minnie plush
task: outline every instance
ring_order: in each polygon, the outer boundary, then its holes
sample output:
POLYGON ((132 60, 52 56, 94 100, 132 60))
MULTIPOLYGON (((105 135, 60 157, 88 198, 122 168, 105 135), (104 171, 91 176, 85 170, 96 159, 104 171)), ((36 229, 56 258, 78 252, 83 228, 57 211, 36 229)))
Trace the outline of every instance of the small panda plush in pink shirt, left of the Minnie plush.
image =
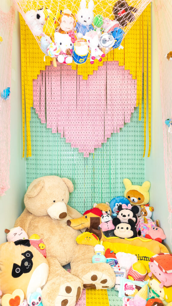
POLYGON ((112 223, 112 217, 106 213, 101 216, 101 224, 98 226, 98 230, 102 230, 106 237, 114 236, 115 226, 112 223))

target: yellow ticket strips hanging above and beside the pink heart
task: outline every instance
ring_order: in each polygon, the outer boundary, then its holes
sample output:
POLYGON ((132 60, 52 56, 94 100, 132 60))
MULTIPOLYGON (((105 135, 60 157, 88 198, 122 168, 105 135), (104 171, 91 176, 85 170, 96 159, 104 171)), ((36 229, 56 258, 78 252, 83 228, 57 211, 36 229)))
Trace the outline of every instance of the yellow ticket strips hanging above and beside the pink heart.
MULTIPOLYGON (((55 1, 54 1, 55 2, 55 1)), ((46 57, 41 51, 35 37, 20 15, 21 24, 21 84, 22 84, 22 119, 23 119, 23 157, 25 148, 25 120, 26 120, 26 156, 32 155, 31 135, 30 135, 30 108, 33 106, 33 79, 37 79, 41 70, 45 70, 46 65, 50 65, 52 58, 46 57), (33 51, 34 50, 34 51, 33 51)), ((71 64, 71 69, 77 70, 78 75, 82 75, 87 80, 88 75, 98 70, 99 66, 105 61, 119 61, 120 66, 130 70, 133 79, 137 79, 137 100, 139 106, 139 120, 142 113, 142 76, 144 72, 144 155, 146 150, 146 109, 148 101, 148 130, 149 130, 149 149, 151 148, 151 4, 138 17, 133 27, 130 28, 122 41, 124 49, 114 49, 110 51, 102 62, 95 61, 93 65, 86 61, 82 65, 71 64), (144 48, 144 52, 143 52, 144 48), (147 63, 148 59, 148 63, 147 63), (144 71, 143 71, 144 63, 144 71), (148 73, 148 86, 147 86, 148 73), (148 96, 147 96, 148 88, 148 96)))

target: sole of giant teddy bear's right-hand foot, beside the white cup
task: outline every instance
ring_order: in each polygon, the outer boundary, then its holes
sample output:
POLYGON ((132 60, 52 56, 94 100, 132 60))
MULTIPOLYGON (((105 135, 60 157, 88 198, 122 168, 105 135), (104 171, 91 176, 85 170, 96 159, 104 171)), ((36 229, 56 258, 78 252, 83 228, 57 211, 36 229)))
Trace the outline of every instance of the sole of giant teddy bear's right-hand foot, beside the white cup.
POLYGON ((105 269, 105 271, 100 271, 100 267, 98 263, 96 263, 97 268, 99 269, 99 271, 97 271, 97 269, 94 270, 94 268, 92 269, 92 271, 84 274, 81 279, 83 282, 83 287, 85 289, 110 289, 114 286, 115 284, 115 274, 114 271, 112 270, 112 268, 109 266, 110 270, 106 271, 107 269, 105 269), (107 272, 107 273, 106 273, 107 272))

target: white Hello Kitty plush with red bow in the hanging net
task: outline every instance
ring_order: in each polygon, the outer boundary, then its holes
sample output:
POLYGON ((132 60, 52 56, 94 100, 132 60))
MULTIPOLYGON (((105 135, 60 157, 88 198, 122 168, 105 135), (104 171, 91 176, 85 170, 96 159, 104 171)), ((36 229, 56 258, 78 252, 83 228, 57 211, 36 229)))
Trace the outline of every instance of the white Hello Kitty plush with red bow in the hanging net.
POLYGON ((73 61, 73 43, 69 35, 55 32, 54 42, 60 47, 60 54, 57 56, 58 62, 63 64, 71 64, 73 61))

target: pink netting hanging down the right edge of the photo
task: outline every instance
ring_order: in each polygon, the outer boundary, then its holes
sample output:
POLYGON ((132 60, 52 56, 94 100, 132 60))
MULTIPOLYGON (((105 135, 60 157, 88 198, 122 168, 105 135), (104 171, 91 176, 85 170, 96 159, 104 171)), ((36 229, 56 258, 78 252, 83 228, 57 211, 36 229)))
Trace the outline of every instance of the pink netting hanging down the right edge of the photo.
MULTIPOLYGON (((172 119, 172 58, 168 59, 165 54, 172 51, 172 15, 171 0, 154 1, 158 51, 159 51, 159 69, 160 69, 160 86, 161 102, 163 114, 163 137, 164 137, 164 165, 166 194, 168 209, 170 212, 170 223, 172 213, 172 130, 165 124, 167 118, 172 119)), ((172 52, 171 52, 172 56, 172 52)))

